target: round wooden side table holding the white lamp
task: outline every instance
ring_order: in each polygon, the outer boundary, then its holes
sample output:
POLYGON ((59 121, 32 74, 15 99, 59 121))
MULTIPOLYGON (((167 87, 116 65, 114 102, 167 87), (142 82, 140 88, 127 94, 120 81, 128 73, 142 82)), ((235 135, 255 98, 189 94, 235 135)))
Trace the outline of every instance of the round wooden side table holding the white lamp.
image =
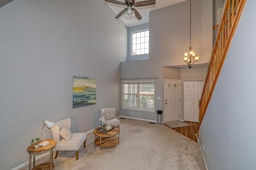
MULTIPOLYGON (((31 165, 32 165, 32 156, 33 156, 33 168, 32 170, 52 170, 54 168, 54 163, 53 163, 53 148, 55 147, 55 145, 57 144, 57 141, 54 139, 45 139, 45 141, 49 141, 49 145, 45 146, 45 147, 38 147, 35 149, 34 147, 34 143, 32 143, 31 145, 33 146, 29 146, 27 148, 27 152, 29 153, 29 166, 28 169, 31 170, 31 165), (36 154, 42 154, 42 152, 47 152, 50 150, 50 162, 44 162, 42 164, 39 164, 37 166, 35 166, 35 161, 36 161, 36 154)), ((42 141, 38 141, 38 143, 43 142, 42 141)))

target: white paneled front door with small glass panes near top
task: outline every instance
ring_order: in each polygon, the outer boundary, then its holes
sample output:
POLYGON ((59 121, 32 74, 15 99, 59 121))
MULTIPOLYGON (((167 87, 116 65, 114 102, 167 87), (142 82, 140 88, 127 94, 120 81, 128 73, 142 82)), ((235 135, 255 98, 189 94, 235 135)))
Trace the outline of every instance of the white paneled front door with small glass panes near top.
POLYGON ((164 80, 164 122, 180 120, 180 80, 164 80))

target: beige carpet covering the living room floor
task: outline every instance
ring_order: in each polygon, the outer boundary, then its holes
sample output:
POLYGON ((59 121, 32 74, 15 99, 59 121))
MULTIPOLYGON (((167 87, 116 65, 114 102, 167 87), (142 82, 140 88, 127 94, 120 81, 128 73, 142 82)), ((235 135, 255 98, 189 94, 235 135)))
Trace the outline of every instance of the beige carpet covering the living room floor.
POLYGON ((79 159, 75 152, 59 152, 54 170, 206 170, 198 143, 166 125, 126 118, 120 129, 120 145, 100 150, 89 133, 79 159))

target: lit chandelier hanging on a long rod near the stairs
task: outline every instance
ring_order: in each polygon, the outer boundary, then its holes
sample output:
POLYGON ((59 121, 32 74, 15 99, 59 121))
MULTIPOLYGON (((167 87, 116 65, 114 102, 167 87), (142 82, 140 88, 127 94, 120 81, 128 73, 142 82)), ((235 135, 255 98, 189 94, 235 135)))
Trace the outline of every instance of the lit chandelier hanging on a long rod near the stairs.
POLYGON ((184 53, 184 61, 187 63, 188 68, 190 69, 192 66, 194 66, 194 63, 198 61, 199 56, 196 56, 196 53, 192 50, 191 47, 191 0, 190 0, 190 47, 189 52, 184 53))

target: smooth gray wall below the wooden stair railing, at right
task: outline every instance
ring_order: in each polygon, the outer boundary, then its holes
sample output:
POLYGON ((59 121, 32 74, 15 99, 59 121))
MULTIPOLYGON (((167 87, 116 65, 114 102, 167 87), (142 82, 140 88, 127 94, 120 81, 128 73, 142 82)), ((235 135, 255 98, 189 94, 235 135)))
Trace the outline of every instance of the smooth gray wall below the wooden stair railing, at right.
POLYGON ((255 6, 246 1, 199 131, 208 170, 256 167, 255 6))

